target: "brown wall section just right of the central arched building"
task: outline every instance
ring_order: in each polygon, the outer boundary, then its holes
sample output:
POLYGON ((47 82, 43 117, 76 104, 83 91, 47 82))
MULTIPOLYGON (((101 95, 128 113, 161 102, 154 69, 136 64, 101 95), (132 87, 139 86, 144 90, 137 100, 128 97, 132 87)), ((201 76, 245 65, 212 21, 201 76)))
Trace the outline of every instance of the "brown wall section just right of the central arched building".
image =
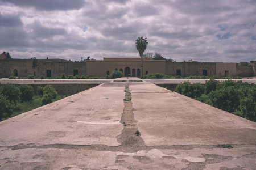
POLYGON ((166 62, 166 74, 177 75, 177 70, 181 71, 181 76, 203 75, 203 70, 207 76, 216 75, 216 63, 210 62, 166 62))

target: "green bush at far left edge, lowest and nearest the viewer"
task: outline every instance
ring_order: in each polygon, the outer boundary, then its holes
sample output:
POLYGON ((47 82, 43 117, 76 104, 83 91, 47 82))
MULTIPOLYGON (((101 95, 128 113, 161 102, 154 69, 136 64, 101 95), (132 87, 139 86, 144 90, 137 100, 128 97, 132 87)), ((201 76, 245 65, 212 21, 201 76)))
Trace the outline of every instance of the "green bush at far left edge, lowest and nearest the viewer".
POLYGON ((0 92, 0 120, 2 118, 10 117, 13 113, 15 104, 10 101, 5 95, 0 92))

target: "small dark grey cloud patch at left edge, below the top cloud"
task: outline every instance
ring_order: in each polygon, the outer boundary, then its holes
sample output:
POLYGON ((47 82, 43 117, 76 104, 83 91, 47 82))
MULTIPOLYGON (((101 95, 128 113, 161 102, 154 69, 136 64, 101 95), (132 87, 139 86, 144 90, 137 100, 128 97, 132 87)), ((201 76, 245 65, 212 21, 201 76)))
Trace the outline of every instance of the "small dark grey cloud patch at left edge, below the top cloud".
POLYGON ((0 27, 19 27, 22 21, 18 15, 2 15, 0 13, 0 27))

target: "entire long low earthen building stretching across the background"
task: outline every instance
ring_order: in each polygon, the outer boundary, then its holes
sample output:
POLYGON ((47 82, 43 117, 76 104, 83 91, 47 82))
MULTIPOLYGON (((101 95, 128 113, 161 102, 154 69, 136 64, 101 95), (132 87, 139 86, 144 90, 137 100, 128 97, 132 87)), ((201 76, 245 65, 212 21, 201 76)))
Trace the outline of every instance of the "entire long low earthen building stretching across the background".
MULTIPOLYGON (((166 62, 143 58, 143 75, 148 73, 163 73, 167 75, 205 75, 226 76, 230 72, 240 73, 240 76, 255 76, 256 61, 240 63, 220 62, 166 62)), ((0 77, 11 75, 27 77, 35 75, 55 78, 65 75, 106 76, 114 70, 119 70, 123 76, 141 76, 141 58, 103 58, 103 60, 84 60, 80 62, 64 59, 0 59, 0 77)))

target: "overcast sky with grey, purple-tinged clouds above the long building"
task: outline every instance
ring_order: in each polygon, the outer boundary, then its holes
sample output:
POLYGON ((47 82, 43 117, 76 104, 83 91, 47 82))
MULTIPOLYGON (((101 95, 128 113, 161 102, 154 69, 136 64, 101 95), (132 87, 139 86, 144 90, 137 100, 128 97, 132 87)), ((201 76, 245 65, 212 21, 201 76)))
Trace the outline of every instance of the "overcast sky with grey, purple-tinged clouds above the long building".
POLYGON ((0 0, 0 53, 13 58, 256 60, 255 0, 0 0))

